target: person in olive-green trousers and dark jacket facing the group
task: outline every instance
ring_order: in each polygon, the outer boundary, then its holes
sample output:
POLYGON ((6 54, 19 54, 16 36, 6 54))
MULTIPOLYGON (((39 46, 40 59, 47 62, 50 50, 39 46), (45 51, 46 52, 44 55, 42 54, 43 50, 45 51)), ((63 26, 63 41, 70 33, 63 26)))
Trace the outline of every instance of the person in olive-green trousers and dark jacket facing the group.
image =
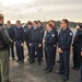
POLYGON ((9 81, 9 45, 12 40, 3 23, 4 16, 0 13, 0 82, 12 82, 9 81))

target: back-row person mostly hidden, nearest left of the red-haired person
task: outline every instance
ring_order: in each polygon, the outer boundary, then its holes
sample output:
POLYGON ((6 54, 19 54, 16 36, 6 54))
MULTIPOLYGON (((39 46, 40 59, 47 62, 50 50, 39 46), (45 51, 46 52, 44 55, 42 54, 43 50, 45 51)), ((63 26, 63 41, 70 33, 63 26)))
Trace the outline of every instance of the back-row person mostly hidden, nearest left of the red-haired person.
POLYGON ((42 26, 42 22, 40 21, 37 21, 37 25, 38 25, 38 30, 42 33, 42 47, 39 48, 39 54, 40 54, 42 58, 44 58, 44 55, 43 55, 44 27, 42 26))

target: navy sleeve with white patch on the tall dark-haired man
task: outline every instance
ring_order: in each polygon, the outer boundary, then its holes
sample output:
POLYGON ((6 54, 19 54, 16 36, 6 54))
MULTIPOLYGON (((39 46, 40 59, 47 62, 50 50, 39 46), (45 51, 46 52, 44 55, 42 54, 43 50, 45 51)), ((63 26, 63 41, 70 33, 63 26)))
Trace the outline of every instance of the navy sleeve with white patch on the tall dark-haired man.
POLYGON ((73 36, 73 33, 70 32, 70 33, 68 34, 66 44, 61 46, 61 49, 62 49, 62 50, 66 50, 66 49, 70 48, 70 45, 71 45, 71 42, 72 42, 72 36, 73 36))

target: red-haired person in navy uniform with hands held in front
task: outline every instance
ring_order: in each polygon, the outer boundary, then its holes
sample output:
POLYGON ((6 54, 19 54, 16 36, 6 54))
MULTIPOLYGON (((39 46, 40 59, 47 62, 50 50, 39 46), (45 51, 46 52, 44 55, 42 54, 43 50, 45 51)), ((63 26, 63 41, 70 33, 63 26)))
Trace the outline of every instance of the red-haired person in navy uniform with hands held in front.
POLYGON ((45 59, 46 59, 46 65, 47 65, 47 68, 45 69, 46 70, 46 73, 49 73, 52 71, 52 66, 54 66, 54 51, 55 51, 55 39, 56 39, 56 35, 52 31, 52 24, 47 24, 46 25, 46 30, 47 30, 47 34, 46 34, 46 37, 45 37, 45 40, 43 40, 43 43, 45 43, 45 59))

